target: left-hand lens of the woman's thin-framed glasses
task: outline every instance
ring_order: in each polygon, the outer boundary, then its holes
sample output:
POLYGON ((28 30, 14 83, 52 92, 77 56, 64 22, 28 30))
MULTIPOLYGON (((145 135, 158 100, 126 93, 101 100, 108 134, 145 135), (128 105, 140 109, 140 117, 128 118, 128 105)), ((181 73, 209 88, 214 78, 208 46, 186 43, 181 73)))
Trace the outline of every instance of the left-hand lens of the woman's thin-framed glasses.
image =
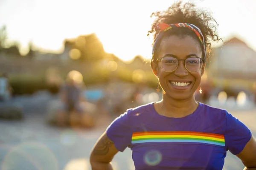
POLYGON ((162 69, 167 72, 175 71, 178 63, 179 61, 174 57, 164 57, 160 62, 162 69))

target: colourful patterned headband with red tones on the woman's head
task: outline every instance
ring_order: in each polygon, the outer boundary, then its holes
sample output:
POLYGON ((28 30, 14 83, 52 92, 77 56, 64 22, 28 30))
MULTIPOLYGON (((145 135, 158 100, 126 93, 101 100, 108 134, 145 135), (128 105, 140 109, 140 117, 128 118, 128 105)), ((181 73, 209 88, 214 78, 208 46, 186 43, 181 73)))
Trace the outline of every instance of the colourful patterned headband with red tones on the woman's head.
POLYGON ((152 51, 152 54, 154 55, 154 50, 155 50, 155 45, 157 44, 157 41, 160 39, 161 37, 161 33, 162 32, 165 32, 171 28, 180 28, 180 27, 187 27, 189 28, 191 31, 195 32, 195 34, 197 35, 197 37, 199 38, 200 42, 202 43, 203 47, 204 47, 204 56, 206 56, 206 48, 205 48, 205 45, 204 45, 204 36, 201 32, 201 30, 193 25, 193 24, 188 24, 188 23, 178 23, 178 24, 166 24, 166 23, 160 23, 157 25, 157 27, 155 28, 155 30, 157 31, 157 38, 154 42, 154 45, 153 45, 153 51, 152 51))

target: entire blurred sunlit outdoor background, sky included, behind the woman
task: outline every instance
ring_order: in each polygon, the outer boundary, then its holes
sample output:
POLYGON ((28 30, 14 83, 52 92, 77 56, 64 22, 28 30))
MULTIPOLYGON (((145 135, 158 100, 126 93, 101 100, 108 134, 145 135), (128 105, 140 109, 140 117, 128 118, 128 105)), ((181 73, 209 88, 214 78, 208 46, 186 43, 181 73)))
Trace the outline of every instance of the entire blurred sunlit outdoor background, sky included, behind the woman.
MULTIPOLYGON (((0 0, 0 170, 90 170, 90 150, 113 119, 162 97, 147 33, 151 13, 173 2, 0 0)), ((212 11, 224 40, 213 44, 196 99, 256 136, 256 2, 193 2, 212 11)), ((133 170, 131 151, 113 166, 133 170)), ((242 168, 228 153, 224 169, 242 168)))

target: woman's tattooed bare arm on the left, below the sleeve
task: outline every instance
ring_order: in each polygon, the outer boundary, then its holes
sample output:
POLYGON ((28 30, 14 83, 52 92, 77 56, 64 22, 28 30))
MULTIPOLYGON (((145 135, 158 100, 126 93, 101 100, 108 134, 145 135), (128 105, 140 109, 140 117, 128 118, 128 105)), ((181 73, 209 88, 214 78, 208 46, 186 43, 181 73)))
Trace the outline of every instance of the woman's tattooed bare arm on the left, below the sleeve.
POLYGON ((113 170, 111 161, 117 152, 115 145, 104 132, 90 154, 92 170, 113 170))

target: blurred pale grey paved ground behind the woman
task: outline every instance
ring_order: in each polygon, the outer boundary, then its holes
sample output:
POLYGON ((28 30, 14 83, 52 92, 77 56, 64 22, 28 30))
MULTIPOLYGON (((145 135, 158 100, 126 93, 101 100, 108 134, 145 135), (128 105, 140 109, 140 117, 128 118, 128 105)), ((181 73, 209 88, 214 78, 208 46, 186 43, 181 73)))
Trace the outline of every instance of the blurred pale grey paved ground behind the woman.
MULTIPOLYGON (((50 127, 45 123, 47 95, 37 100, 24 96, 16 102, 24 106, 25 119, 0 120, 0 170, 90 170, 90 150, 107 124, 93 130, 50 127)), ((256 136, 256 110, 230 112, 256 136)), ((134 170, 130 150, 118 153, 113 165, 115 170, 134 170)), ((224 169, 242 168, 239 159, 228 153, 224 169)))

